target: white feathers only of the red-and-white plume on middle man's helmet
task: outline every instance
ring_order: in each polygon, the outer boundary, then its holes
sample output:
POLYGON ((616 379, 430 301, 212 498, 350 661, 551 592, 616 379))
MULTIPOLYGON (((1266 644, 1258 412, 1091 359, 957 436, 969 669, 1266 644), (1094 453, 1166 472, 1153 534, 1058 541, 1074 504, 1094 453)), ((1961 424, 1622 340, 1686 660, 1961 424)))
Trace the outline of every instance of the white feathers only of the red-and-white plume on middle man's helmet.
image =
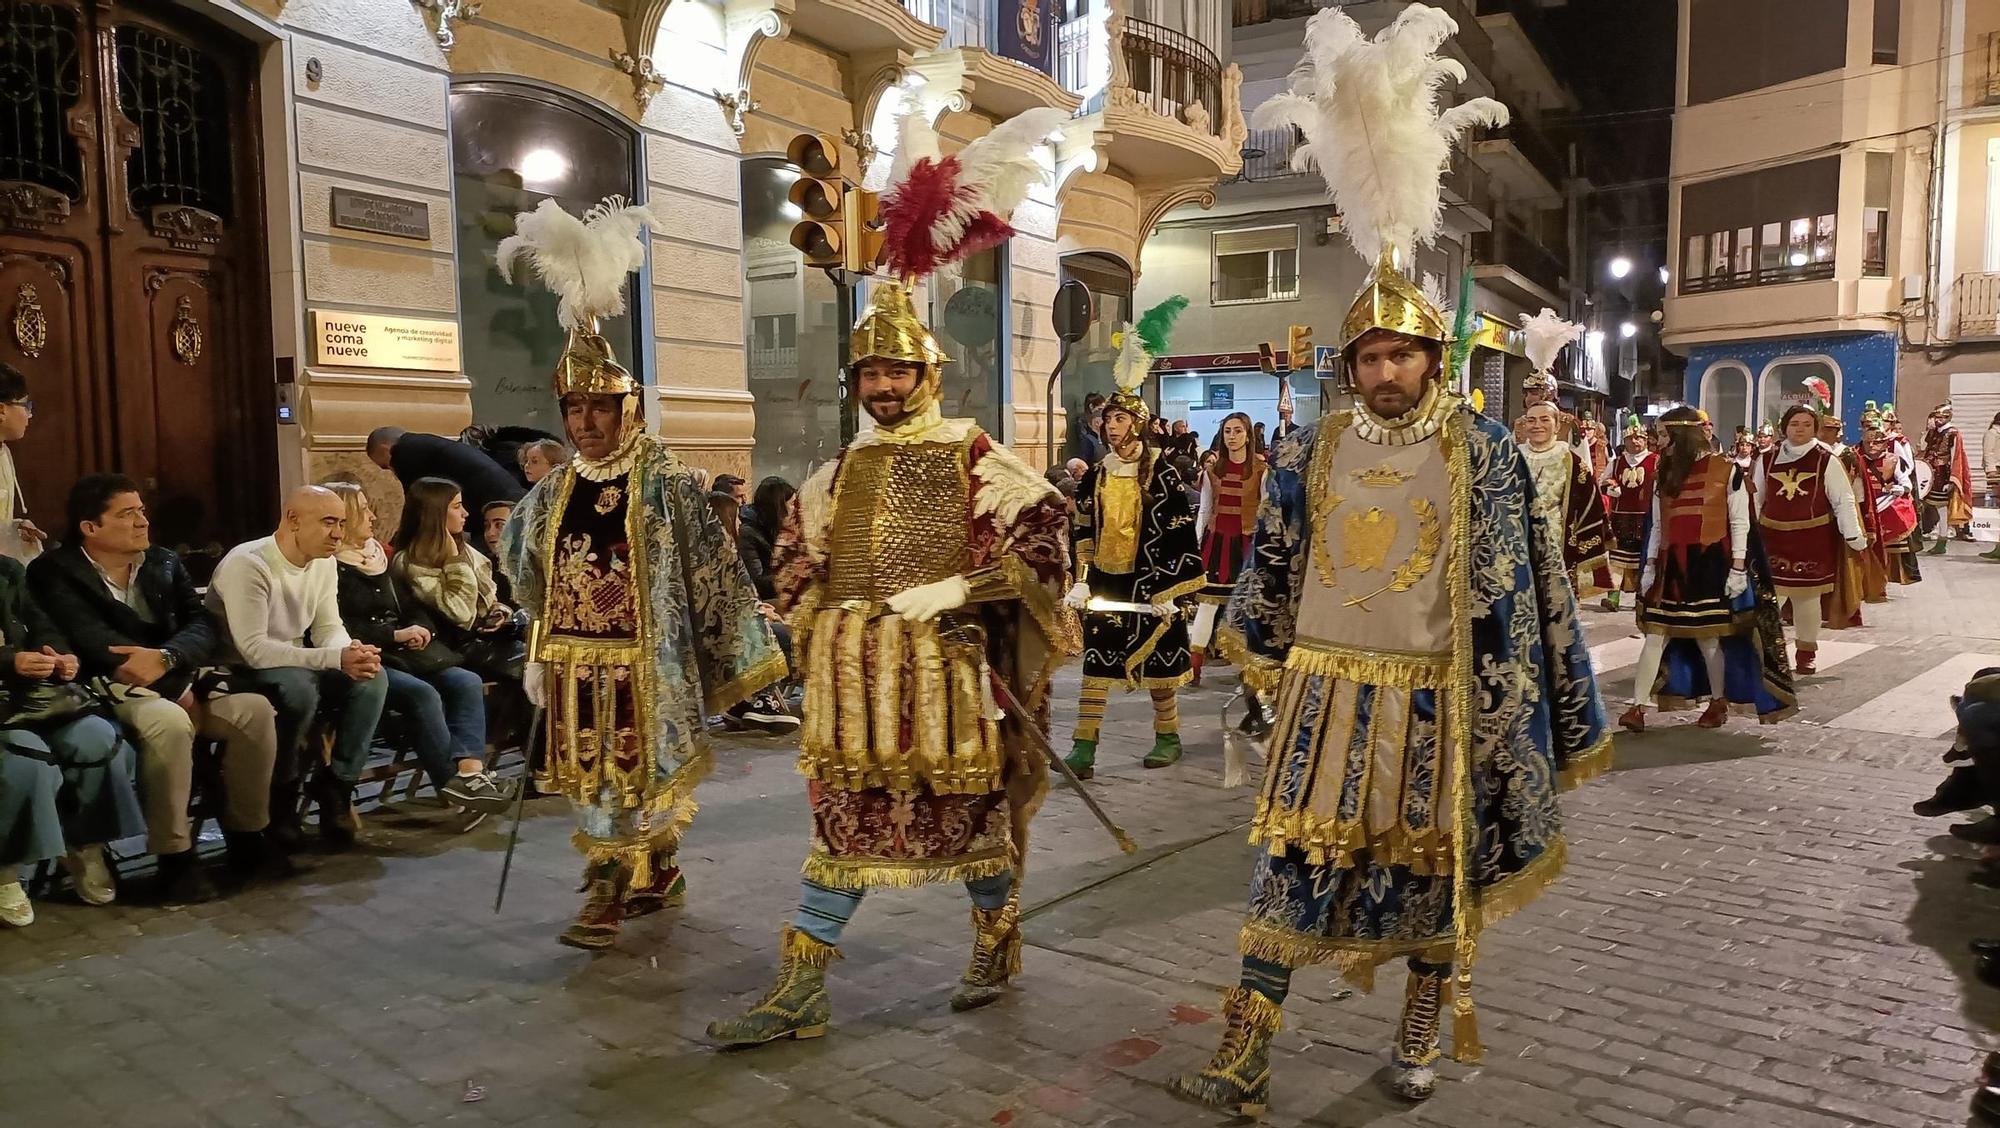
MULTIPOLYGON (((1070 114, 1060 108, 1024 110, 958 150, 954 154, 958 192, 930 226, 932 246, 958 246, 966 228, 980 214, 990 212, 1002 222, 1010 222, 1014 208, 1020 208, 1020 202, 1028 198, 1028 190, 1048 180, 1034 150, 1068 120, 1070 114)), ((938 130, 930 124, 930 110, 912 90, 904 94, 896 120, 896 158, 890 162, 884 192, 902 188, 916 162, 926 158, 936 164, 944 160, 944 150, 938 142, 938 130)))

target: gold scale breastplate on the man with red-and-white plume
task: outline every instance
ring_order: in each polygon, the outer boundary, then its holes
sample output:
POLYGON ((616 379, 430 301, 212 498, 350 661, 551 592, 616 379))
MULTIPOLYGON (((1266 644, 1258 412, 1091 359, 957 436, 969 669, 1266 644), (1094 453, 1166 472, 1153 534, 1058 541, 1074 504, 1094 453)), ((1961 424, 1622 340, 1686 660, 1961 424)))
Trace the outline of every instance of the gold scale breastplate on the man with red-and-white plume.
POLYGON ((850 450, 834 478, 826 600, 882 602, 966 570, 968 444, 850 450))

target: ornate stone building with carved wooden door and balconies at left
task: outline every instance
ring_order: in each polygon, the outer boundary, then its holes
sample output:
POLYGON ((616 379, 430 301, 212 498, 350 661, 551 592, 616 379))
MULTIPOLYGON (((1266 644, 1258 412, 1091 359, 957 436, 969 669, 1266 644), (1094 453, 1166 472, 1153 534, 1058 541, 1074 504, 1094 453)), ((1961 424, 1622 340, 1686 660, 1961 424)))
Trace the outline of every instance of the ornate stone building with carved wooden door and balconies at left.
POLYGON ((606 326, 690 462, 802 478, 844 428, 842 310, 786 230, 792 136, 880 176, 916 92, 948 142, 1030 106, 1076 126, 1022 238, 932 280, 952 408, 1044 434, 1066 254, 1128 270, 1164 208, 1236 172, 1218 0, 8 0, 0 360, 38 420, 16 450, 52 524, 82 472, 152 494, 196 564, 268 530, 280 490, 384 424, 560 430, 554 300, 506 282, 512 216, 604 196, 658 216, 606 326), (1190 62, 1192 60, 1192 62, 1190 62))

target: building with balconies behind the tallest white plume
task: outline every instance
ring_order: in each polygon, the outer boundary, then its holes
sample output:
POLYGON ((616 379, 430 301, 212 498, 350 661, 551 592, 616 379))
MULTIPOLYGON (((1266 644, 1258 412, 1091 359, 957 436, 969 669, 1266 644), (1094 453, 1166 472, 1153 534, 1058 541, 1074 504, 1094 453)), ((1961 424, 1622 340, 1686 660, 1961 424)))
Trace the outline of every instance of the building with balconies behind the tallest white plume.
MULTIPOLYGON (((1468 374, 1492 414, 1520 408, 1530 366, 1520 354, 1518 316, 1544 306, 1574 314, 1580 270, 1570 256, 1570 220, 1586 182, 1548 140, 1546 122, 1574 110, 1574 98, 1550 72, 1522 10, 1532 4, 1432 0, 1458 22, 1450 52, 1466 80, 1454 100, 1488 96, 1514 122, 1472 138, 1444 178, 1444 236, 1418 254, 1416 276, 1458 300, 1470 266, 1478 342, 1468 374)), ((1244 74, 1244 106, 1278 94, 1298 64, 1306 20, 1324 0, 1238 0, 1232 56, 1244 74)), ((1368 34, 1404 8, 1394 0, 1340 4, 1368 34)), ((1208 210, 1182 208, 1162 218, 1146 242, 1138 306, 1186 294, 1192 306, 1174 334, 1176 356, 1160 368, 1160 408, 1186 418, 1204 436, 1222 416, 1242 410, 1276 422, 1278 382, 1258 368, 1258 346, 1282 354, 1290 326, 1318 326, 1330 344, 1354 292, 1368 274, 1326 198, 1318 172, 1292 166, 1300 138, 1292 130, 1254 130, 1244 140, 1242 170, 1216 190, 1208 210)), ((1284 356, 1298 372, 1312 370, 1284 356)), ((1560 374, 1576 404, 1604 394, 1602 366, 1568 364, 1560 374), (1574 372, 1572 372, 1574 368, 1574 372)), ((1316 418, 1320 382, 1292 376, 1300 422, 1316 418)))

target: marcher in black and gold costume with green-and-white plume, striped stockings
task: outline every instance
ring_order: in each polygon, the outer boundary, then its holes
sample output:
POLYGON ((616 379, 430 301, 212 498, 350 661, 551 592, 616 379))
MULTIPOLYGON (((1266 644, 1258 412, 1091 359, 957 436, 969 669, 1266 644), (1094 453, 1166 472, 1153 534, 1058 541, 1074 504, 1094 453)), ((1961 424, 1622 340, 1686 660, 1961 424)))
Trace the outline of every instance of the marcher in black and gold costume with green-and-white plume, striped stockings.
POLYGON ((1168 298, 1118 338, 1112 370, 1118 390, 1104 404, 1110 450, 1076 488, 1076 586, 1064 600, 1084 612, 1084 692, 1066 760, 1084 780, 1096 770, 1098 728, 1112 686, 1152 694, 1152 752, 1140 764, 1164 768, 1180 760, 1174 694, 1192 678, 1182 600, 1200 592, 1208 576, 1182 476, 1140 436, 1152 418, 1142 394, 1146 372, 1166 354, 1166 334, 1186 306, 1186 298, 1168 298))

